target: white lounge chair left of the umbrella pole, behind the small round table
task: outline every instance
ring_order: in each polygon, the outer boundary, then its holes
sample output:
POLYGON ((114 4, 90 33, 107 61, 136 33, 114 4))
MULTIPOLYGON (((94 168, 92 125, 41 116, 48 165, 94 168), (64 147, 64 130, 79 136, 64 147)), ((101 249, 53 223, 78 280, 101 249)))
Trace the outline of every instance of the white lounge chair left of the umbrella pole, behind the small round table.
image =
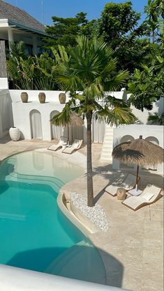
MULTIPOLYGON (((140 177, 138 178, 137 182, 139 183, 139 181, 140 181, 140 177)), ((112 184, 110 184, 109 186, 105 188, 105 191, 112 196, 116 196, 118 188, 124 188, 126 189, 126 191, 129 191, 135 187, 135 183, 136 183, 136 175, 128 173, 124 181, 113 182, 112 184)))

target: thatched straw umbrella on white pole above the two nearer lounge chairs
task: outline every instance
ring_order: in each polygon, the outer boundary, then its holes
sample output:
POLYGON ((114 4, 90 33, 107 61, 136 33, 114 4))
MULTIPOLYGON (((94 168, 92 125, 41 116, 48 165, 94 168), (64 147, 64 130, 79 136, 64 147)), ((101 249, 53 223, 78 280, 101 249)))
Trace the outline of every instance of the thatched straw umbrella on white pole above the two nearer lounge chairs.
POLYGON ((112 156, 125 163, 137 164, 135 186, 135 189, 137 189, 139 166, 155 166, 156 164, 163 163, 163 148, 142 139, 142 136, 140 136, 140 139, 120 143, 112 151, 112 156))

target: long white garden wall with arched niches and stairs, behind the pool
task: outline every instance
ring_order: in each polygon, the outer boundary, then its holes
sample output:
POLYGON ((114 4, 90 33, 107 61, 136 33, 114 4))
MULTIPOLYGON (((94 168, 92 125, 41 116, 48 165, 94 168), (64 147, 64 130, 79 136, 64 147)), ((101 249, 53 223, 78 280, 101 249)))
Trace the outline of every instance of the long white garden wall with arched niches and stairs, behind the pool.
MULTIPOLYGON (((60 136, 67 136, 67 127, 56 127, 50 123, 50 119, 55 114, 61 112, 65 104, 60 104, 59 93, 61 91, 44 91, 46 100, 40 104, 38 100, 39 91, 27 91, 29 101, 22 103, 20 90, 9 90, 8 80, 0 78, 0 138, 8 133, 10 127, 18 127, 22 139, 43 139, 50 141, 59 139, 60 136)), ((120 92, 112 92, 114 97, 127 100, 126 89, 122 88, 120 92)), ((66 102, 68 101, 68 95, 66 102)), ((163 126, 148 125, 147 118, 149 111, 140 111, 133 108, 133 113, 140 120, 139 125, 121 125, 119 127, 110 127, 105 123, 94 120, 92 123, 92 142, 103 143, 100 155, 101 161, 110 162, 115 169, 124 168, 124 164, 118 160, 112 159, 112 149, 123 141, 137 139, 141 134, 143 139, 147 139, 158 144, 163 148, 163 126)), ((163 112, 163 99, 154 104, 151 113, 163 112)), ((87 141, 86 123, 82 127, 69 128, 69 140, 83 139, 87 141)), ((128 165, 130 168, 132 165, 128 165)), ((151 171, 163 173, 163 166, 151 168, 151 171)))

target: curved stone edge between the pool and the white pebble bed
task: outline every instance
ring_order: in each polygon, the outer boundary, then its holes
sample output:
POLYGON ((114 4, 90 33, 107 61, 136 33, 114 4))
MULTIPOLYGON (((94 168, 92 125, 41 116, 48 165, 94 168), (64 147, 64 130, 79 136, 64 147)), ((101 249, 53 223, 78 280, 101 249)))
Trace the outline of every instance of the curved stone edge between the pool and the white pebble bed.
MULTIPOLYGON (((73 212, 68 209, 70 207, 70 205, 67 207, 67 203, 70 204, 70 201, 66 200, 65 195, 67 195, 69 198, 70 194, 68 192, 66 193, 66 190, 65 190, 65 193, 63 190, 59 190, 59 194, 57 196, 57 204, 59 206, 59 209, 61 210, 61 212, 64 213, 64 215, 67 217, 67 219, 70 220, 71 223, 73 223, 87 238, 89 238, 89 240, 91 241, 91 244, 93 244, 94 248, 96 249, 96 251, 98 251, 98 254, 100 255, 100 251, 97 248, 97 246, 94 244, 94 242, 92 241, 90 235, 93 233, 101 233, 102 231, 100 230, 100 228, 97 228, 97 227, 93 230, 93 229, 91 229, 91 227, 89 228, 86 226, 86 224, 82 223, 82 221, 80 221, 80 219, 78 219, 75 216, 75 214, 73 214, 73 212)), ((89 223, 89 219, 87 219, 87 220, 89 223)), ((92 224, 93 223, 91 223, 90 225, 92 226, 92 224)), ((106 271, 105 264, 103 262, 103 258, 101 255, 100 255, 100 259, 101 259, 101 262, 103 264, 103 268, 105 270, 105 276, 104 276, 105 281, 103 284, 106 285, 106 283, 107 283, 107 271, 106 271)))

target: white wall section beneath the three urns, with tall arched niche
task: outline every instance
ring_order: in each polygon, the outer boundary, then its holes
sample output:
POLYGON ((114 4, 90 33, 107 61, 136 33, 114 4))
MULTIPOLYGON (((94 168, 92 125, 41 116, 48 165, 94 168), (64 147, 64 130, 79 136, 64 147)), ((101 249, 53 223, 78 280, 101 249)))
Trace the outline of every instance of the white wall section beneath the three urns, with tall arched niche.
MULTIPOLYGON (((13 119, 15 127, 20 129, 22 139, 40 138, 50 141, 52 139, 50 118, 54 115, 52 112, 61 112, 65 106, 65 104, 60 104, 59 102, 59 93, 61 93, 61 91, 26 91, 29 96, 27 103, 22 103, 20 97, 22 92, 24 91, 10 90, 10 97, 13 102, 13 119), (44 92, 46 95, 46 100, 43 104, 40 104, 38 100, 39 92, 44 92), (36 113, 36 116, 32 117, 33 113, 36 113), (40 123, 40 126, 38 125, 40 128, 36 129, 36 131, 38 130, 41 132, 40 136, 33 136, 32 127, 35 122, 40 123)), ((68 101, 68 95, 66 101, 68 101)), ((64 133, 61 129, 59 131, 59 136, 62 134, 64 133)))

